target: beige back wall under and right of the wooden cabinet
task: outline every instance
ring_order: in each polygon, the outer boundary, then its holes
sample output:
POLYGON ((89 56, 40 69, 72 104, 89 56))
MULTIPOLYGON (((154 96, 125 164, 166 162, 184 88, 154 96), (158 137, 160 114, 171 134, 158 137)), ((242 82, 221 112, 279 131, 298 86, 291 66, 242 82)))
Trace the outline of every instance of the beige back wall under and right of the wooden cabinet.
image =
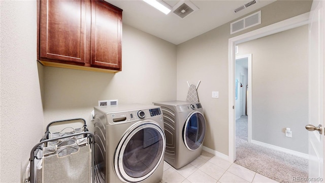
POLYGON ((86 119, 99 100, 151 104, 176 99, 176 45, 123 24, 122 71, 116 74, 44 67, 44 118, 86 119))

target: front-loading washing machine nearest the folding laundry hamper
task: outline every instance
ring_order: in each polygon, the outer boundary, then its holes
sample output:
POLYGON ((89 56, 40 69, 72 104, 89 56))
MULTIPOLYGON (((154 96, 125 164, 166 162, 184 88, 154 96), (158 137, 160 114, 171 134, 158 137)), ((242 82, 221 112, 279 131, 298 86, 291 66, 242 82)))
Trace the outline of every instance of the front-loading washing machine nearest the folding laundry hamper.
POLYGON ((166 137, 159 106, 99 106, 94 115, 97 183, 163 178, 166 137))

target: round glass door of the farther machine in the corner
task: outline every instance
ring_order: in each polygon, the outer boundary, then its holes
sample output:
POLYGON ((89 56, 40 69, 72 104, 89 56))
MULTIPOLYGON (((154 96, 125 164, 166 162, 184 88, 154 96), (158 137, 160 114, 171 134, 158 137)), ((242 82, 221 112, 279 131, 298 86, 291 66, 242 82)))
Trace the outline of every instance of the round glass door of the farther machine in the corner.
POLYGON ((189 150, 196 150, 203 144, 206 122, 201 112, 192 112, 186 119, 183 128, 183 139, 189 150))

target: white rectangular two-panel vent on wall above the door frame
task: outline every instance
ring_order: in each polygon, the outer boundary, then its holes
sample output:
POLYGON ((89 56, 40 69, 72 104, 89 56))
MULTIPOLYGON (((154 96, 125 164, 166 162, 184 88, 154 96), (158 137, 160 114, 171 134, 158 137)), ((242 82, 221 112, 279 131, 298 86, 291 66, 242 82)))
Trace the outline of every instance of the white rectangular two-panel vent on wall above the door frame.
POLYGON ((248 15, 230 24, 230 34, 243 31, 246 28, 261 24, 261 11, 248 15))

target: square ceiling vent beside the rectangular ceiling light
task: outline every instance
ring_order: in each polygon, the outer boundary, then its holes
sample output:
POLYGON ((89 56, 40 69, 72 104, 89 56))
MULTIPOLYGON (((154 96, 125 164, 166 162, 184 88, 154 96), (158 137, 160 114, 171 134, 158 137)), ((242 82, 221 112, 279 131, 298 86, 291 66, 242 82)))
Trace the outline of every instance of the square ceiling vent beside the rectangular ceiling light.
POLYGON ((180 18, 185 18, 187 15, 197 10, 199 10, 199 8, 195 6, 192 2, 180 1, 173 7, 172 11, 180 18))

